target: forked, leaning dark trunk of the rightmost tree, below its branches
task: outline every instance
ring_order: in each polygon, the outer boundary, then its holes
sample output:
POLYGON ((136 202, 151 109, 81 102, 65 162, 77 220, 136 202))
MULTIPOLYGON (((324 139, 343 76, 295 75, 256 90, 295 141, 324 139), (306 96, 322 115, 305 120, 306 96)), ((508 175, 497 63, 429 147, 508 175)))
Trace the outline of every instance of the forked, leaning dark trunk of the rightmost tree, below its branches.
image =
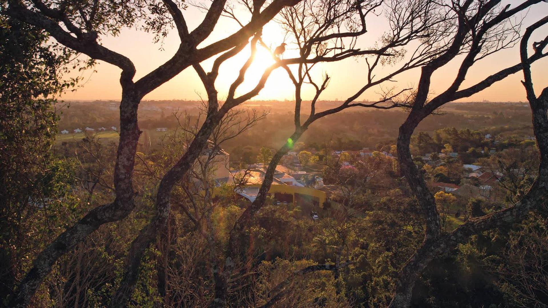
MULTIPOLYGON (((432 234, 429 237, 428 231, 426 231, 424 242, 403 266, 401 271, 399 271, 396 290, 389 307, 408 307, 410 305, 415 281, 433 258, 449 252, 459 245, 459 243, 469 240, 470 236, 474 234, 487 229, 520 222, 527 217, 530 210, 537 207, 540 202, 546 200, 548 196, 548 117, 546 114, 548 109, 548 88, 543 91, 543 94, 539 98, 530 99, 529 103, 532 110, 536 144, 540 152, 540 165, 539 176, 528 193, 515 205, 486 216, 470 219, 469 222, 459 226, 451 233, 437 237, 432 236, 432 234)), ((409 115, 409 118, 412 118, 412 114, 409 115)), ((412 123, 415 123, 415 121, 412 121, 412 123)), ((413 161, 410 160, 409 140, 416 125, 405 125, 402 125, 398 137, 398 159, 402 166, 402 172, 422 206, 426 200, 429 200, 427 199, 427 195, 431 196, 431 194, 427 190, 424 191, 423 187, 426 186, 424 180, 420 176, 420 173, 418 173, 418 169, 413 164, 413 161)), ((427 205, 435 208, 435 201, 427 202, 433 202, 427 205)), ((432 219, 431 215, 431 212, 426 212, 427 219, 432 219)))

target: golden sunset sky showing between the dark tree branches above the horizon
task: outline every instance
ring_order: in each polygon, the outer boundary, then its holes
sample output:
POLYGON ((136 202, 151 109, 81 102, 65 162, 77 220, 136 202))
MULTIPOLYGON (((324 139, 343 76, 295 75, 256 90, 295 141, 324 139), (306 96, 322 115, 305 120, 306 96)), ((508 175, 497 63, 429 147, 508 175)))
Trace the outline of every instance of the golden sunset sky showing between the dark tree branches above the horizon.
MULTIPOLYGON (((514 3, 515 1, 507 1, 514 3)), ((189 8, 184 11, 187 23, 190 28, 195 27, 201 21, 203 13, 194 8, 189 8)), ((524 19, 524 26, 542 18, 548 14, 548 3, 539 4, 535 9, 530 10, 524 19)), ((358 41, 358 46, 371 45, 376 38, 381 34, 382 28, 374 27, 374 23, 382 25, 381 21, 373 20, 373 24, 368 25, 370 30, 365 34, 364 38, 358 41), (373 30, 371 30, 373 29, 373 30)), ((215 27, 215 31, 206 42, 210 43, 214 40, 224 38, 237 30, 237 24, 227 18, 222 19, 215 27)), ((548 27, 540 28, 532 37, 532 41, 536 38, 544 37, 548 32, 548 27)), ((266 44, 271 45, 272 49, 283 42, 283 32, 275 22, 266 25, 262 36, 266 44)), ((136 67, 136 75, 134 80, 146 75, 167 59, 172 56, 179 45, 179 38, 176 31, 173 30, 168 37, 165 38, 163 45, 154 44, 152 42, 153 35, 135 29, 125 29, 117 37, 104 37, 102 44, 112 50, 121 53, 131 59, 136 67), (162 49, 160 49, 162 47, 162 49)), ((284 56, 295 56, 295 46, 289 44, 284 56)), ((243 61, 247 59, 249 54, 248 48, 242 51, 241 54, 227 61, 221 66, 220 74, 216 85, 218 86, 219 98, 222 100, 226 95, 230 83, 236 78, 237 72, 243 61)), ((548 57, 547 57, 548 58, 548 57)), ((517 48, 500 51, 476 65, 471 69, 464 86, 471 85, 479 80, 487 77, 489 74, 495 73, 502 68, 515 65, 519 61, 519 52, 517 48)), ((212 61, 203 62, 206 71, 209 71, 212 61)), ((272 63, 272 59, 266 50, 259 48, 258 54, 255 57, 254 64, 250 67, 246 75, 246 82, 239 91, 242 93, 245 90, 251 89, 259 80, 264 68, 272 63)), ((393 67, 384 67, 384 72, 389 72, 396 69, 398 65, 393 67)), ((438 70, 433 75, 432 91, 434 93, 443 91, 443 87, 448 86, 454 78, 456 72, 456 61, 449 63, 448 66, 438 70)), ((344 100, 353 95, 359 88, 364 85, 366 75, 366 63, 363 58, 347 59, 335 63, 322 64, 315 67, 315 76, 320 78, 322 74, 329 74, 332 78, 326 91, 324 91, 321 99, 323 100, 344 100)), ((541 89, 548 86, 548 59, 537 61, 533 65, 533 80, 535 88, 541 89)), ((121 98, 121 87, 118 83, 120 69, 109 63, 99 62, 95 67, 97 72, 84 72, 84 82, 77 91, 67 92, 61 98, 63 100, 119 100, 121 98)), ((382 72, 379 72, 379 75, 382 72)), ((419 70, 408 71, 399 75, 395 80, 398 82, 398 87, 409 88, 418 83, 419 70)), ((524 101, 525 91, 520 83, 523 75, 516 73, 506 78, 505 80, 496 83, 489 89, 486 89, 478 94, 467 98, 463 101, 524 101)), ((394 84, 391 84, 393 86, 394 84)), ((366 91, 359 100, 376 100, 379 97, 379 89, 370 89, 366 91)), ((260 92, 254 100, 293 100, 294 88, 287 77, 287 73, 282 68, 278 68, 272 73, 265 88, 260 92)), ((150 94, 145 96, 144 100, 199 100, 200 97, 205 98, 205 91, 196 72, 193 69, 187 68, 178 76, 163 84, 150 94)), ((304 91, 303 98, 309 100, 313 97, 312 88, 307 88, 304 91)))

